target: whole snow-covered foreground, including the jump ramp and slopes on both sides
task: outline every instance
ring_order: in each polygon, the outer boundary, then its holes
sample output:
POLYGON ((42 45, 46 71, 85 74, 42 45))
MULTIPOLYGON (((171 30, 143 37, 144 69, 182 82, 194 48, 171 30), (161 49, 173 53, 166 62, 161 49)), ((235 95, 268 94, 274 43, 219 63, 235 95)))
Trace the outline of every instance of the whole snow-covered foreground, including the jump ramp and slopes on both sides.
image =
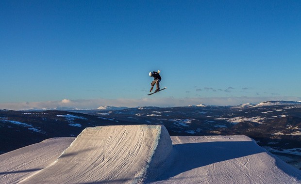
POLYGON ((36 149, 43 141, 0 155, 0 183, 301 183, 300 170, 246 136, 170 137, 163 125, 112 125, 71 140, 46 140, 49 151, 36 149))

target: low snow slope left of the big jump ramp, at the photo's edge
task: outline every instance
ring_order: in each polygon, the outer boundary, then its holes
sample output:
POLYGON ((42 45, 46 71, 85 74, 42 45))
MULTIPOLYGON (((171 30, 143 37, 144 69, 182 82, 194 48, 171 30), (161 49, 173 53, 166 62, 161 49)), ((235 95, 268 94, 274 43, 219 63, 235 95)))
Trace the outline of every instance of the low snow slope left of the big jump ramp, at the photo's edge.
POLYGON ((50 138, 0 155, 0 184, 16 184, 53 163, 75 138, 50 138))

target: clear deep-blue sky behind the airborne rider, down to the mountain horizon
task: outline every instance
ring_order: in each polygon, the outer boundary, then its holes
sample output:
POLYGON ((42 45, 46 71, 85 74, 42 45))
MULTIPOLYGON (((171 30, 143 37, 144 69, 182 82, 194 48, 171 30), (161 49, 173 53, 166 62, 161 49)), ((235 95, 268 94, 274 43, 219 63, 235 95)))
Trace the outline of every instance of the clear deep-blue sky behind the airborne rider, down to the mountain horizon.
POLYGON ((300 10, 299 0, 1 0, 0 108, 301 100, 300 10), (157 70, 167 90, 147 96, 157 70))

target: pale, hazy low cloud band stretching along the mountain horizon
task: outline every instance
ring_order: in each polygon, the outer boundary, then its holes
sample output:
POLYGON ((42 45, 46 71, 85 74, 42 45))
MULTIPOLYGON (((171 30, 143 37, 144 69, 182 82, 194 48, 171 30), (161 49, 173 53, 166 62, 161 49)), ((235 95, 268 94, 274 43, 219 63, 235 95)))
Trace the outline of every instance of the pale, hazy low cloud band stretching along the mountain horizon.
POLYGON ((258 104, 268 100, 301 101, 300 97, 195 97, 195 98, 140 98, 140 99, 82 99, 45 102, 21 102, 21 103, 0 103, 0 109, 25 110, 25 109, 48 109, 56 107, 75 107, 75 108, 97 108, 100 106, 116 107, 138 107, 138 106, 157 106, 157 107, 178 107, 188 105, 239 105, 243 103, 258 104))

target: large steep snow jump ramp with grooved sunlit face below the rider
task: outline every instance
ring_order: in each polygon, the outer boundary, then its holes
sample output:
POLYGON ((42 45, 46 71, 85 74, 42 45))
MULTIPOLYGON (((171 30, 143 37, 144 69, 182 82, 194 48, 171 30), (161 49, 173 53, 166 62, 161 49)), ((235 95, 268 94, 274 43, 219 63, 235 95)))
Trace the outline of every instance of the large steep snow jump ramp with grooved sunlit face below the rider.
POLYGON ((22 184, 144 183, 172 152, 162 125, 86 128, 49 167, 22 184))

